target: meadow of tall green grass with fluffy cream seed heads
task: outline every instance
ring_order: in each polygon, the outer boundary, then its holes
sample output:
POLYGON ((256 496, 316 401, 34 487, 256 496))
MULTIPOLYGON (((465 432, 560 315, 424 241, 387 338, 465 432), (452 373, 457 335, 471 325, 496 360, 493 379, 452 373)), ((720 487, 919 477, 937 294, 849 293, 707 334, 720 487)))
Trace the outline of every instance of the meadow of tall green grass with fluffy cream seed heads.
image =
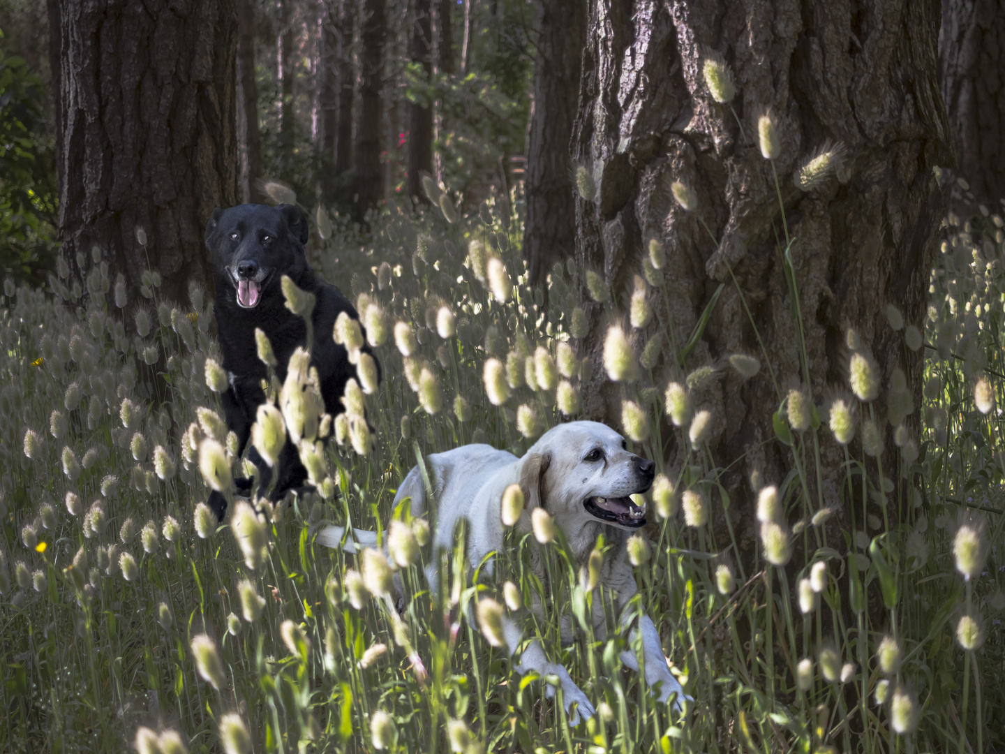
MULTIPOLYGON (((677 189, 688 201, 686 187, 677 189)), ((622 325, 641 329, 647 345, 636 354, 609 332, 607 363, 592 368, 623 386, 617 428, 661 473, 646 501, 658 526, 632 550, 639 595, 629 609, 653 617, 694 699, 680 716, 621 672, 620 650, 633 648, 627 631, 561 537, 540 546, 539 559, 534 537, 511 530, 502 575, 486 580, 463 567, 460 532, 452 551, 431 553, 427 527, 407 507, 392 510, 399 481, 426 453, 487 441, 521 454, 577 416, 579 380, 591 368, 575 350, 584 323, 569 276, 553 271, 547 310, 527 286, 519 196, 461 216, 448 194, 429 190, 438 207, 385 213, 362 241, 313 213, 327 237, 313 254, 329 280, 351 290, 384 378, 373 384, 361 363, 336 417, 318 417, 310 401, 288 400, 292 391, 273 384, 286 422, 304 435, 316 492, 262 502, 257 515, 234 501, 219 526, 199 504, 242 461, 214 392, 225 379, 208 335, 209 297, 193 287, 188 302, 163 301, 150 273, 130 300, 100 249, 76 259, 89 270, 83 279, 60 265, 55 296, 5 286, 0 749, 1005 746, 999 215, 948 217, 928 318, 904 323, 888 313, 904 349, 931 345, 923 405, 913 405, 902 373, 890 405, 875 405, 874 366, 853 332, 846 397, 825 404, 780 394, 773 441, 787 446, 794 470, 752 480, 763 541, 753 569, 709 526, 728 504, 719 479, 736 459, 717 464, 702 451, 698 387, 722 369, 769 379, 764 355, 727 354, 672 384, 654 381, 660 348, 675 355, 687 344, 655 332, 662 250, 649 248, 622 325), (921 436, 908 429, 916 412, 921 436), (876 421, 883 416, 893 423, 876 421), (692 448, 682 467, 663 461, 667 427, 692 448), (335 441, 321 449, 315 440, 329 433, 335 441), (899 458, 883 469, 877 452, 889 433, 899 458), (822 507, 814 486, 814 448, 832 442, 847 448, 840 511, 822 507), (896 501, 896 521, 876 505, 886 499, 896 501), (835 516, 842 537, 828 542, 823 524, 835 516), (322 521, 377 530, 382 541, 390 534, 391 565, 373 551, 316 546, 322 521), (793 564, 795 538, 805 562, 793 564), (443 576, 438 595, 422 577, 430 558, 443 576), (486 598, 519 616, 525 634, 534 626, 594 701, 595 718, 571 727, 546 699, 551 680, 521 677, 492 648, 467 617, 486 598), (866 609, 867 598, 881 608, 866 609), (540 610, 521 608, 536 602, 540 610), (594 603, 605 605, 603 639, 584 618, 594 603), (575 619, 571 644, 561 640, 562 614, 575 619)), ((608 298, 599 277, 590 282, 596 299, 608 298)), ((352 327, 339 337, 359 345, 352 327)), ((310 393, 310 374, 290 374, 310 393)), ((266 449, 276 416, 262 414, 256 441, 266 449)))

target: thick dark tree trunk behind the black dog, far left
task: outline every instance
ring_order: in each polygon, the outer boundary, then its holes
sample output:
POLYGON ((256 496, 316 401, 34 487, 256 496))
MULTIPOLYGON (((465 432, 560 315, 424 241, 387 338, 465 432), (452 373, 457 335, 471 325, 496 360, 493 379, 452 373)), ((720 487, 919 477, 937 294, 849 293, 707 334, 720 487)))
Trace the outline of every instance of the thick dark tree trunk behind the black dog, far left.
POLYGON ((49 23, 66 260, 92 275, 99 247, 102 276, 125 275, 131 301, 148 264, 160 297, 185 301, 191 279, 211 291, 203 230, 214 207, 237 202, 234 0, 184 12, 49 0, 49 23))

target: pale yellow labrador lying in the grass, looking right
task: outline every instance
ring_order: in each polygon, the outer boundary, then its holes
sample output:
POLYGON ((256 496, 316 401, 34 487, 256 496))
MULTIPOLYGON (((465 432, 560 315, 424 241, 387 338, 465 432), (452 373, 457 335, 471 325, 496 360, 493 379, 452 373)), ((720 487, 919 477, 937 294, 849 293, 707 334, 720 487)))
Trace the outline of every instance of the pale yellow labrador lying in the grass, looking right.
MULTIPOLYGON (((629 533, 645 524, 645 511, 636 506, 630 496, 646 492, 652 485, 655 466, 650 460, 629 452, 624 438, 616 431, 595 421, 573 421, 560 424, 546 432, 527 454, 518 458, 513 453, 496 450, 490 445, 463 445, 426 458, 434 497, 438 501, 434 552, 451 546, 454 526, 461 518, 469 522, 467 554, 471 567, 476 567, 492 552, 504 546, 504 526, 500 518, 502 492, 520 484, 525 496, 525 509, 518 522, 523 532, 531 530, 531 510, 541 506, 562 529, 579 564, 589 559, 597 536, 603 532, 606 542, 614 547, 608 552, 601 571, 601 583, 616 594, 616 606, 621 611, 635 593, 635 579, 625 554, 629 533)), ((413 467, 398 489, 395 504, 411 498, 412 514, 421 516, 427 507, 425 486, 418 466, 413 467)), ((343 546, 344 529, 329 526, 318 535, 318 542, 328 547, 343 546)), ((357 541, 373 546, 372 532, 356 531, 357 541)), ((350 545, 351 546, 351 545, 350 545)), ((489 561, 483 569, 492 575, 489 561)), ((427 566, 426 578, 435 591, 437 572, 427 566)), ((624 615, 622 624, 627 622, 624 615)), ((595 612, 594 622, 603 631, 603 614, 595 612)), ((572 621, 563 621, 571 631, 572 621)), ((634 643, 641 632, 642 659, 646 683, 660 702, 676 693, 674 707, 690 698, 670 674, 663 655, 656 626, 643 614, 629 634, 634 643)), ((523 638, 521 629, 509 618, 504 619, 504 634, 510 654, 517 651, 523 638)), ((563 638, 571 640, 571 636, 563 638)), ((639 666, 631 651, 621 653, 621 662, 638 672, 639 666)), ((583 691, 573 682, 562 666, 548 659, 544 647, 532 640, 520 657, 516 670, 525 674, 536 671, 542 676, 559 678, 566 710, 576 725, 580 716, 592 717, 594 707, 583 691), (576 709, 573 709, 573 708, 576 709)), ((554 692, 549 688, 548 696, 554 692)))

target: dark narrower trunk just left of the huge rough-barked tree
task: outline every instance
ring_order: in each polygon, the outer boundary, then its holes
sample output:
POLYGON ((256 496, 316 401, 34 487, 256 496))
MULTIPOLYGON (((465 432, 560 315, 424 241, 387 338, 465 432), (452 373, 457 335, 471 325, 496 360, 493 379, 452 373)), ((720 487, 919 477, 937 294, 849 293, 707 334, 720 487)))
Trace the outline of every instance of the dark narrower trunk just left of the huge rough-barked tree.
POLYGON ((556 260, 574 252, 576 200, 569 140, 585 44, 586 5, 544 0, 534 70, 524 225, 524 258, 532 286, 541 285, 556 260))

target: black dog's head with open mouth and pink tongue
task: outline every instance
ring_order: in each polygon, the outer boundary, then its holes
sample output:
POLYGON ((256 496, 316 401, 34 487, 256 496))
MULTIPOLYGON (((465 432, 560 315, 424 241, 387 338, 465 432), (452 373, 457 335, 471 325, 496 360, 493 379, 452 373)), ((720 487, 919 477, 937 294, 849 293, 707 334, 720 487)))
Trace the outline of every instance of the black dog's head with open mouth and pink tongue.
POLYGON ((205 237, 213 257, 216 300, 233 296, 242 309, 257 307, 265 290, 278 286, 282 275, 296 280, 310 269, 304 253, 308 221, 292 204, 217 207, 206 223, 205 237))

